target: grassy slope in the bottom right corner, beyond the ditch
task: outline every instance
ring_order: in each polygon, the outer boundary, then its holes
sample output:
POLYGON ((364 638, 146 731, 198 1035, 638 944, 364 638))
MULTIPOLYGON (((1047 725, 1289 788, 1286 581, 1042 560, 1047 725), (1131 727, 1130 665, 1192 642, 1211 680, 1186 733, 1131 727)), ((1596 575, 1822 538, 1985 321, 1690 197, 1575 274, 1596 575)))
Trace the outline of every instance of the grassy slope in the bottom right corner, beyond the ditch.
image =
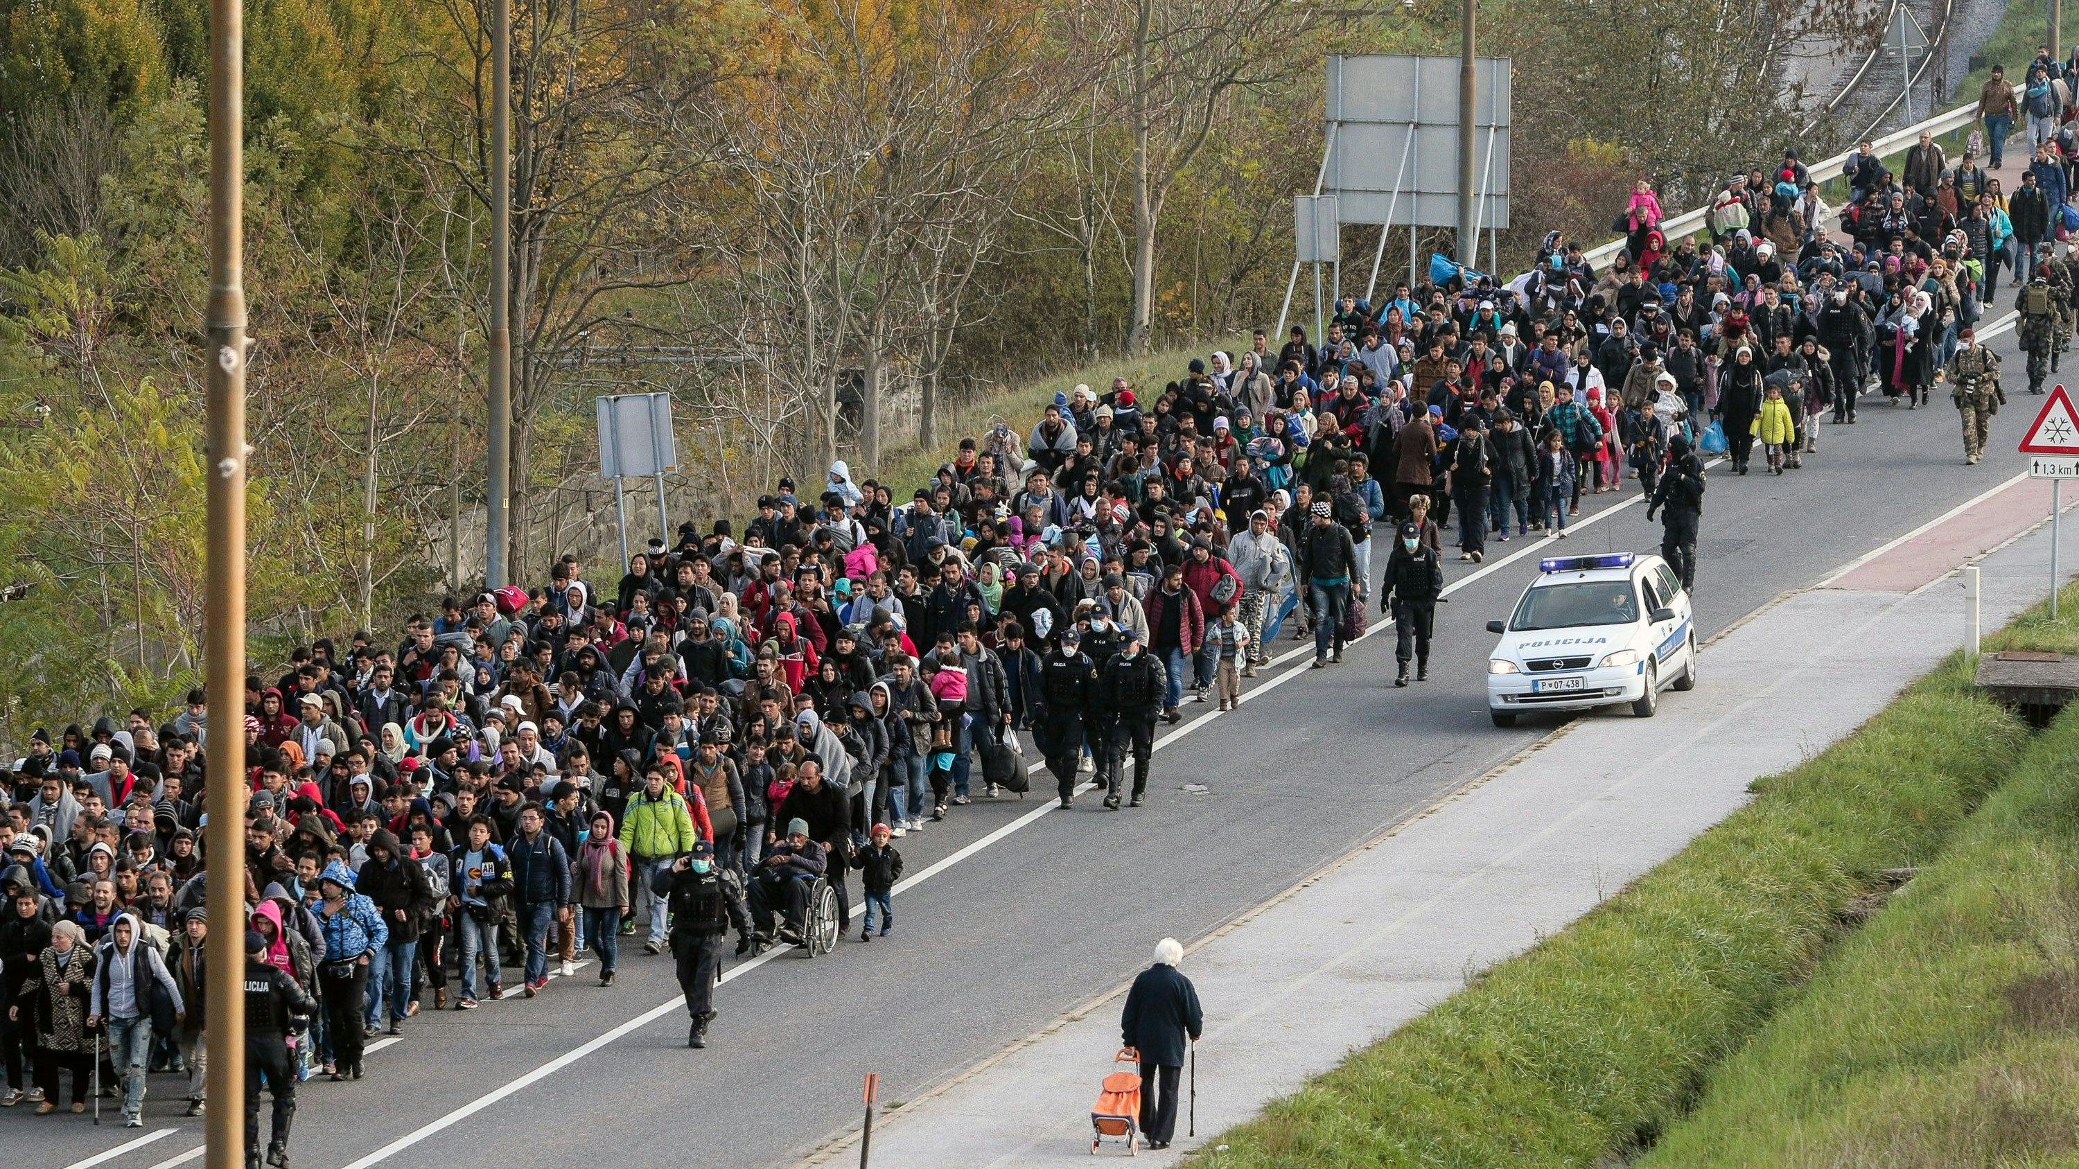
POLYGON ((2073 1165, 2079 709, 1640 1169, 2073 1165))

